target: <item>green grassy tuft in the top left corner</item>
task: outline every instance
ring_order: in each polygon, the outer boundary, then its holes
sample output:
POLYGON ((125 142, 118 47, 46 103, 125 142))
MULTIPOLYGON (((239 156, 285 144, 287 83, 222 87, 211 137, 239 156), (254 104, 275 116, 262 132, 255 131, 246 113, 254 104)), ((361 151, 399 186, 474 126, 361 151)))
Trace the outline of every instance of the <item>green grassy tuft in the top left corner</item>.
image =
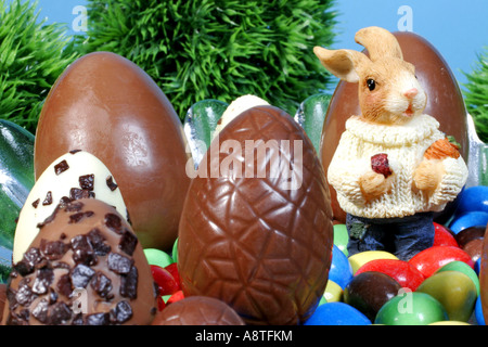
POLYGON ((0 118, 33 133, 51 86, 78 56, 67 26, 38 20, 37 5, 0 0, 0 118))

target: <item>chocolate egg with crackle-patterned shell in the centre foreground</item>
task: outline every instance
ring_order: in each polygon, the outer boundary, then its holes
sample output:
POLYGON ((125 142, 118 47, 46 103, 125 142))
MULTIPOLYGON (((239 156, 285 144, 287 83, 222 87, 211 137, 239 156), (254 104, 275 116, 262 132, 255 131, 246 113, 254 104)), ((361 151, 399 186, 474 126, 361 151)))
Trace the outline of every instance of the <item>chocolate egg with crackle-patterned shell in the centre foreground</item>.
POLYGON ((181 215, 184 296, 230 305, 248 324, 298 324, 325 290, 332 209, 313 145, 283 111, 257 106, 222 129, 181 215))

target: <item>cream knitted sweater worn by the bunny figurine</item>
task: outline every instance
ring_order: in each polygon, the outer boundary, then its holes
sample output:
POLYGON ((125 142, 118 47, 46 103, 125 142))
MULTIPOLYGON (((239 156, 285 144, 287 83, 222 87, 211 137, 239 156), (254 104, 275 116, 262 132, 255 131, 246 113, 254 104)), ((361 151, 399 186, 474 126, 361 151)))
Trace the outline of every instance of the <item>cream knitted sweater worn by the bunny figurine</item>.
POLYGON ((404 217, 421 211, 442 210, 455 198, 467 179, 463 158, 442 159, 445 174, 429 194, 412 190, 413 172, 431 144, 446 136, 439 123, 420 115, 402 126, 375 125, 352 116, 346 121, 336 152, 328 169, 329 183, 337 192, 344 211, 367 218, 404 217), (371 171, 371 156, 386 153, 391 176, 391 190, 367 202, 359 187, 359 177, 371 171))

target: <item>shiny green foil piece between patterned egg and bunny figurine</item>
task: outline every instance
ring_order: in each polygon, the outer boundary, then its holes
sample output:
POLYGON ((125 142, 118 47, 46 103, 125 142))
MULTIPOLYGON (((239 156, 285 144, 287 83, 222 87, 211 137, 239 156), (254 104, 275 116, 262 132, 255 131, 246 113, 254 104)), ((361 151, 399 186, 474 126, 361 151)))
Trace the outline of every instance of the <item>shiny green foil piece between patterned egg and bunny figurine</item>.
POLYGON ((332 95, 319 93, 308 97, 295 114, 295 120, 304 128, 317 153, 320 153, 320 140, 323 123, 332 95))

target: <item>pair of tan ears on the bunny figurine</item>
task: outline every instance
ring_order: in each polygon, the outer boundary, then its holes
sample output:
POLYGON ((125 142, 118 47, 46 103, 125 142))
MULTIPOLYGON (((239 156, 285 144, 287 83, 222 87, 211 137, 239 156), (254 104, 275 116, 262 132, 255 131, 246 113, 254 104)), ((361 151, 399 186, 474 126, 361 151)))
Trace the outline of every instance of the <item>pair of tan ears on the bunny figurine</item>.
POLYGON ((386 29, 377 26, 362 28, 356 33, 355 39, 368 50, 370 57, 354 50, 326 50, 321 47, 313 48, 313 53, 331 74, 348 82, 357 82, 358 69, 367 68, 380 57, 403 59, 396 37, 386 29))

